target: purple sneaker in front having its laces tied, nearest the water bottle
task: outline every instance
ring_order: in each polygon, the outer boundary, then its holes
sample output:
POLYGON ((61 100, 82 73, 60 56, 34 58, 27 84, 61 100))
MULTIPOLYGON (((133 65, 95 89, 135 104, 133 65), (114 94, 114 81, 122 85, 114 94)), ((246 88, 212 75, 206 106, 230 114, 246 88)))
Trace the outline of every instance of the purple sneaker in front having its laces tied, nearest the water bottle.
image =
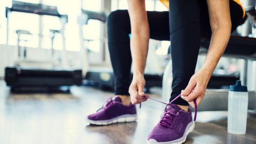
POLYGON ((185 112, 176 104, 169 103, 161 120, 149 133, 147 143, 182 144, 194 127, 191 109, 189 112, 185 112))

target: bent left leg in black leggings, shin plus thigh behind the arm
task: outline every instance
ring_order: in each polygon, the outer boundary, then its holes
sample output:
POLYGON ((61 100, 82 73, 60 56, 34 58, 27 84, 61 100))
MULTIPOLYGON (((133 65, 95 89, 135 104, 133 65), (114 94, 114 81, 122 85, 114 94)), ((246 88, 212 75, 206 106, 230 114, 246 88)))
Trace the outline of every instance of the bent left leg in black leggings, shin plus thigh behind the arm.
MULTIPOLYGON (((147 12, 150 38, 169 40, 168 12, 147 12)), ((115 95, 129 95, 131 84, 130 18, 127 10, 111 12, 108 17, 108 49, 115 75, 115 95)))

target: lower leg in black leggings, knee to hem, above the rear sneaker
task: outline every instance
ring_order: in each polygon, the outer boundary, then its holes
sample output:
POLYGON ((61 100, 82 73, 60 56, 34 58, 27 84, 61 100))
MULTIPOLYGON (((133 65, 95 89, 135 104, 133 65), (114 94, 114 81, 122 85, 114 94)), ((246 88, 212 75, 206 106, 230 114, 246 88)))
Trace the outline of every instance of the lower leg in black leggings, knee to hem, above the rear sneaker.
POLYGON ((111 12, 108 17, 108 49, 115 76, 115 95, 129 95, 131 83, 131 33, 127 10, 111 12))

